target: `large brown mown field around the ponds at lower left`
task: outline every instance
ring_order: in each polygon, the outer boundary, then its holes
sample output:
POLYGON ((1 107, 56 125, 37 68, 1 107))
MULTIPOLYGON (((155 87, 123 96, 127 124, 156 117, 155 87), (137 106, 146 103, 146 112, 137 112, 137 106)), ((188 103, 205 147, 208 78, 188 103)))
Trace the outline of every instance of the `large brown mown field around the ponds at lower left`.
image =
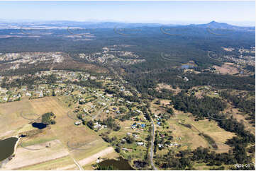
POLYGON ((6 120, 4 124, 0 125, 1 138, 34 130, 33 135, 21 138, 16 149, 16 157, 5 165, 5 170, 17 168, 49 170, 57 167, 61 167, 63 170, 77 170, 78 167, 72 158, 77 160, 80 165, 87 165, 87 160, 91 163, 96 162, 94 154, 100 156, 115 153, 113 148, 108 148, 108 144, 87 126, 75 126, 74 120, 67 117, 67 112, 70 109, 56 97, 9 102, 1 104, 0 109, 3 109, 0 119, 6 120), (31 121, 21 117, 19 111, 24 111, 23 115, 29 118, 35 117, 30 113, 41 115, 45 112, 53 112, 56 115, 56 124, 38 131, 29 124, 31 121), (49 143, 50 148, 44 148, 49 143), (67 143, 72 148, 67 146, 67 143), (26 148, 37 150, 31 151, 26 148))

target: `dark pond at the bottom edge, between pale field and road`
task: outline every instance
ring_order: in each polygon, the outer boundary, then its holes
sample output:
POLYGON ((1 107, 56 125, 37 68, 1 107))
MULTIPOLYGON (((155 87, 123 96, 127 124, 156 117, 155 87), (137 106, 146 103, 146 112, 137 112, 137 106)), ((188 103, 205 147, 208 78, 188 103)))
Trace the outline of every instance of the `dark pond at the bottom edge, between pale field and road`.
POLYGON ((108 159, 104 160, 101 163, 99 163, 100 166, 111 166, 116 170, 134 170, 133 167, 130 166, 128 163, 128 160, 124 160, 123 158, 118 158, 117 160, 115 159, 108 159))

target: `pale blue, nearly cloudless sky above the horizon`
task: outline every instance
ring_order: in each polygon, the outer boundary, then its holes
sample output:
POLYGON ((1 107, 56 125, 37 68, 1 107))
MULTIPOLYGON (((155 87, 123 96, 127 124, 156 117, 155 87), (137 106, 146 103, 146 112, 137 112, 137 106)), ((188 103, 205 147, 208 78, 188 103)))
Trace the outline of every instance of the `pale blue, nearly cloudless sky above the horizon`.
POLYGON ((255 25, 255 1, 0 1, 0 19, 255 25))

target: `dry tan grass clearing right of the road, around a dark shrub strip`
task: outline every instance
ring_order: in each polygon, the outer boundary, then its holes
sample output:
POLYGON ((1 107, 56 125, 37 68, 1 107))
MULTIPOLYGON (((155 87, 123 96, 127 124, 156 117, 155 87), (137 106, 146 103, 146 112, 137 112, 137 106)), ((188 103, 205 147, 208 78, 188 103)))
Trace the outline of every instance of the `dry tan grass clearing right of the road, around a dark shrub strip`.
POLYGON ((174 128, 174 137, 183 135, 184 140, 187 141, 187 143, 191 143, 189 146, 191 149, 199 146, 209 147, 206 139, 199 136, 199 133, 204 133, 213 138, 216 142, 218 146, 218 149, 216 150, 217 153, 228 152, 230 147, 226 145, 225 142, 229 138, 235 136, 235 134, 221 129, 215 121, 209 121, 208 119, 195 121, 194 117, 190 114, 184 114, 183 112, 177 111, 175 111, 175 113, 175 119, 178 119, 178 122, 181 122, 182 124, 189 124, 191 125, 191 128, 187 128, 186 126, 177 123, 177 120, 170 120, 169 126, 174 128))

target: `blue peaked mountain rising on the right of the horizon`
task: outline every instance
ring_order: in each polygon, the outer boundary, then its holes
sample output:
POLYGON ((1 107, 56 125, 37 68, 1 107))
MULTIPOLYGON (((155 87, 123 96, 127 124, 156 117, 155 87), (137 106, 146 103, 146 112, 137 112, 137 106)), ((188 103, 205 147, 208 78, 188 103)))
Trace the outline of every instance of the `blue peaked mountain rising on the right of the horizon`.
POLYGON ((255 31, 255 27, 241 27, 236 25, 229 25, 227 23, 218 23, 216 21, 211 21, 206 24, 191 24, 190 26, 198 27, 198 28, 211 28, 211 29, 227 29, 227 30, 239 30, 239 31, 255 31))

